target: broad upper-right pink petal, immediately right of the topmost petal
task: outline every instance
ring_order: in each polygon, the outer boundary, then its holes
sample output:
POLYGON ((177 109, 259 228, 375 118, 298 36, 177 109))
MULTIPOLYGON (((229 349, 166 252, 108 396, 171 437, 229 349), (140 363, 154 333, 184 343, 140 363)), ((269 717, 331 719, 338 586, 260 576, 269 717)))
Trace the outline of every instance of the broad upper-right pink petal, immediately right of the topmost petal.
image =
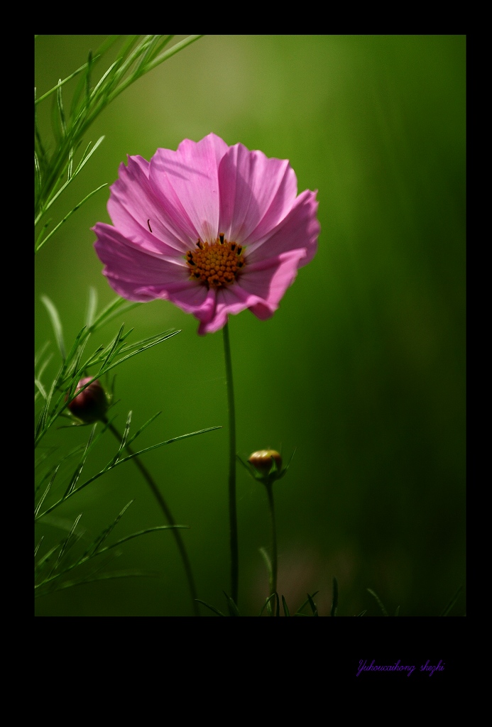
POLYGON ((297 179, 287 159, 236 144, 219 164, 219 232, 240 244, 262 238, 294 204, 297 179))

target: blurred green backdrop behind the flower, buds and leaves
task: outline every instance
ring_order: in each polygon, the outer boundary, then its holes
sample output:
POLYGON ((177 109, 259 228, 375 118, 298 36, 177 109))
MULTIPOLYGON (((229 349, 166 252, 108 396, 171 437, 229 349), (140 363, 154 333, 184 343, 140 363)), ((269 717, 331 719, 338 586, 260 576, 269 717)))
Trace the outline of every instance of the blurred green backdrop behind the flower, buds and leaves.
MULTIPOLYGON (((104 37, 39 36, 38 95, 104 37)), ((465 586, 465 53, 465 36, 204 36, 102 113, 86 142, 105 140, 53 214, 59 220, 112 183, 127 154, 149 159, 209 132, 289 158, 299 192, 318 190, 318 254, 273 318, 244 311, 229 326, 238 452, 273 447, 288 459, 297 448, 275 486, 278 590, 291 608, 319 590, 327 615, 334 576, 344 616, 365 608, 380 615, 367 587, 390 612, 434 616, 465 586)), ((109 63, 110 55, 98 72, 109 63)), ((50 111, 50 101, 40 105, 47 133, 50 111)), ((115 297, 90 230, 110 222, 107 200, 105 188, 36 256, 36 350, 53 340, 41 295, 60 310, 69 345, 84 324, 89 287, 100 306, 115 297)), ((198 595, 222 610, 222 590, 230 590, 222 334, 198 337, 195 318, 150 302, 108 324, 89 348, 109 342, 121 322, 134 327, 132 340, 181 332, 117 369, 116 424, 122 429, 131 409, 134 431, 161 410, 140 448, 224 427, 145 455, 177 522, 190 525, 182 533, 198 595)), ((55 373, 51 350, 45 381, 55 373)), ((88 434, 54 427, 43 446, 68 451, 88 434)), ((106 435, 87 472, 115 448, 106 435)), ((133 498, 115 539, 163 524, 132 462, 57 517, 73 522, 84 513, 91 537, 133 498)), ((36 536, 59 539, 55 524, 36 536)), ((239 606, 254 615, 267 595, 259 547, 270 545, 270 521, 265 491, 241 465, 238 526, 239 606)), ((36 614, 191 615, 171 534, 145 535, 121 552, 113 570, 156 575, 39 598, 36 614)), ((452 614, 464 611, 461 595, 452 614)))

